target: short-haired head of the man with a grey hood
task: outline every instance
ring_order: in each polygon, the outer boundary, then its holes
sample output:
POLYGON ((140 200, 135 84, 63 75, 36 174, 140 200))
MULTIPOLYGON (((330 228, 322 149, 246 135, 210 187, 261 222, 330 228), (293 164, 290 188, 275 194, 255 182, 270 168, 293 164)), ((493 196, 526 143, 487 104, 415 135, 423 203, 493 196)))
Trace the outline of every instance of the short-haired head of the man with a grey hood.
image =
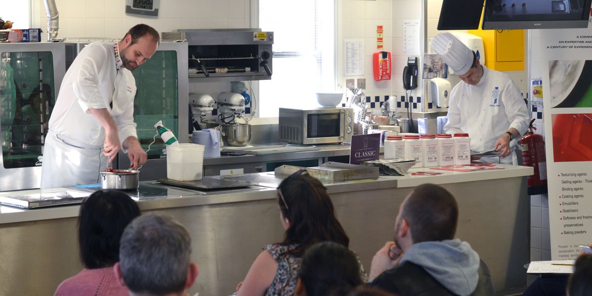
POLYGON ((440 185, 422 184, 413 189, 401 210, 410 224, 413 243, 453 239, 458 223, 458 205, 440 185))

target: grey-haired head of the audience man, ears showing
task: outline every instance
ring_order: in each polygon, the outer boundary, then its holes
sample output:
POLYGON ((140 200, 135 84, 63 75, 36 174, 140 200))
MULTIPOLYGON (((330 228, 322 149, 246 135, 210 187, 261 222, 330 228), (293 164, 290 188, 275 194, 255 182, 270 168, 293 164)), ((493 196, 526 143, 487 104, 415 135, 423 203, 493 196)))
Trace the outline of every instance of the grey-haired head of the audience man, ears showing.
POLYGON ((165 215, 142 215, 121 236, 115 276, 131 296, 186 295, 198 274, 190 255, 185 227, 165 215))

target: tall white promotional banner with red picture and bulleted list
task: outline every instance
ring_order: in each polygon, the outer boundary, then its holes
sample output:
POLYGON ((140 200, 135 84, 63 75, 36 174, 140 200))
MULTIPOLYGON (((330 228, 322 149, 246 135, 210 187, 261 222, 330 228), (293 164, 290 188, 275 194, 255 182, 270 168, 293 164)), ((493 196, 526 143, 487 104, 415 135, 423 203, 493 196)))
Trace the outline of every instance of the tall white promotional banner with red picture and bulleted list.
POLYGON ((551 258, 592 244, 592 29, 540 30, 551 258))

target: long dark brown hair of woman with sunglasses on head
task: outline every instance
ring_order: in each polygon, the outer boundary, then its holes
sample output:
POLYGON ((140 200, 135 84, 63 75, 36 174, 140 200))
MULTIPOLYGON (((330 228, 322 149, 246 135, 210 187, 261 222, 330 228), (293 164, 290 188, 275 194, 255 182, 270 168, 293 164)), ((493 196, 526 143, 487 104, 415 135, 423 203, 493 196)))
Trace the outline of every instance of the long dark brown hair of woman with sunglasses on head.
POLYGON ((337 220, 327 188, 305 170, 293 173, 278 186, 279 210, 290 225, 282 244, 297 244, 293 255, 318 242, 349 245, 349 238, 337 220))

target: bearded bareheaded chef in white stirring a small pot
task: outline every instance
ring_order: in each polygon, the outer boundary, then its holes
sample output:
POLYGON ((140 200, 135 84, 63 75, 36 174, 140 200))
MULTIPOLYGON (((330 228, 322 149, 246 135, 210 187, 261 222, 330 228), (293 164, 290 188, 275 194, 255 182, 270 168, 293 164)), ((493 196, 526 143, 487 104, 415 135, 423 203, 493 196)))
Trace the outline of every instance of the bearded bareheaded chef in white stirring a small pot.
POLYGON ((146 163, 134 123, 136 81, 131 71, 160 42, 149 25, 132 27, 117 43, 86 46, 67 70, 49 119, 41 188, 99 182, 121 149, 133 168, 146 163))

